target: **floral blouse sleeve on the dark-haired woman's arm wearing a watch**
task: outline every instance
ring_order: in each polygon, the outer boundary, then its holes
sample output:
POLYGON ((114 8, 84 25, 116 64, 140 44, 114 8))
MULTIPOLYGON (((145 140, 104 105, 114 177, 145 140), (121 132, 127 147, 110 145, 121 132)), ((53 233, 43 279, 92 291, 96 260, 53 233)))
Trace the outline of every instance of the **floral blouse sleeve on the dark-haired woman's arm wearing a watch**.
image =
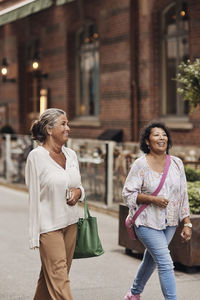
POLYGON ((182 161, 179 161, 180 167, 180 208, 179 208, 179 219, 182 221, 184 218, 190 215, 190 208, 189 208, 189 200, 188 200, 188 192, 187 192, 187 181, 184 171, 184 166, 182 161))

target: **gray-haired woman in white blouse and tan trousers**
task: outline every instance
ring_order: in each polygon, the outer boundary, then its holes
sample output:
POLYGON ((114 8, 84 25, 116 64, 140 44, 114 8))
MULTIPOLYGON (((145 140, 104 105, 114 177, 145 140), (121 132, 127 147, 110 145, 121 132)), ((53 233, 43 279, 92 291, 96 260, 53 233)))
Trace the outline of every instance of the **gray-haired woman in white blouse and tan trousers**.
POLYGON ((39 248, 41 272, 34 300, 73 300, 69 270, 75 249, 77 202, 84 190, 76 153, 65 147, 69 136, 66 113, 47 109, 31 127, 39 142, 27 158, 29 244, 39 248))

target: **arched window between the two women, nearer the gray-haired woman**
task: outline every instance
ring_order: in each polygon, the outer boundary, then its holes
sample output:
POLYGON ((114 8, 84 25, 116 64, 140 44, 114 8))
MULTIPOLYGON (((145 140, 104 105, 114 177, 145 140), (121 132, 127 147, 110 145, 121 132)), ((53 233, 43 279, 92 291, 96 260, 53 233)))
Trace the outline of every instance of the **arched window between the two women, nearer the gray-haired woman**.
POLYGON ((77 33, 77 117, 99 114, 99 34, 87 21, 77 33))

